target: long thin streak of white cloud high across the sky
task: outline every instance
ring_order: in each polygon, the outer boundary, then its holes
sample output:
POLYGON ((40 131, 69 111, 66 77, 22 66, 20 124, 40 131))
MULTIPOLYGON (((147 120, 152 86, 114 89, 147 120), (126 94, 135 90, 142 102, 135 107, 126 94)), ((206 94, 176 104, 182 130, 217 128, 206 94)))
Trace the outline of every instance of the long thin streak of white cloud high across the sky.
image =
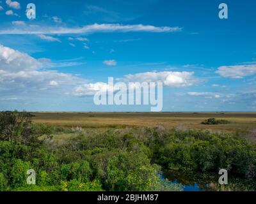
POLYGON ((180 27, 156 27, 154 25, 122 25, 122 24, 92 24, 83 27, 45 27, 33 29, 2 29, 0 34, 90 34, 90 33, 127 33, 127 32, 150 32, 150 33, 170 33, 181 31, 180 27))

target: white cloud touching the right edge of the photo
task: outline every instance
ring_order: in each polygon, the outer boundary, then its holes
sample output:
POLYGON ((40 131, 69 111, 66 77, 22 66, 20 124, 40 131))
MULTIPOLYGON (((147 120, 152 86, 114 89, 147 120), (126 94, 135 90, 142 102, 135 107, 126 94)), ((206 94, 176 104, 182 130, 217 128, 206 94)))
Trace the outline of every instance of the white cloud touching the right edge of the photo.
POLYGON ((216 71, 221 77, 227 78, 244 78, 256 74, 256 64, 244 64, 235 66, 221 66, 216 71))

